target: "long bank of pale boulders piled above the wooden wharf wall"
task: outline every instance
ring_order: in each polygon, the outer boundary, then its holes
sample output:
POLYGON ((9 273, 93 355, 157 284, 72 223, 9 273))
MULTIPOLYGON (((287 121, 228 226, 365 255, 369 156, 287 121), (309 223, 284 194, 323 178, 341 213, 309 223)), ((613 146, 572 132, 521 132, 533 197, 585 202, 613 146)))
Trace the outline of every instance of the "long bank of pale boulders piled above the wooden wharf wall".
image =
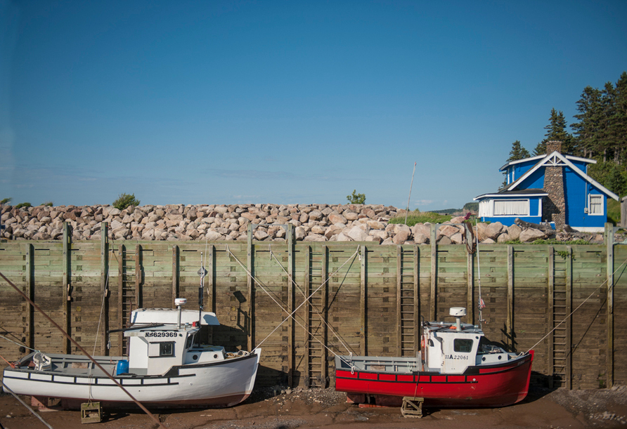
MULTIPOLYGON (((122 211, 112 206, 2 206, 1 223, 5 226, 2 237, 8 239, 62 239, 67 221, 75 241, 101 239, 101 225, 107 222, 110 237, 117 240, 245 240, 252 224, 254 239, 283 241, 286 230, 281 225, 292 224, 299 241, 429 244, 429 223, 412 227, 389 223, 402 213, 402 209, 375 204, 174 204, 129 206, 122 211)), ((462 221, 453 218, 448 223, 462 221)), ((459 225, 442 225, 437 242, 461 244, 463 232, 459 225)), ((540 230, 504 227, 498 222, 479 223, 475 232, 482 243, 532 242, 548 237, 540 230)))

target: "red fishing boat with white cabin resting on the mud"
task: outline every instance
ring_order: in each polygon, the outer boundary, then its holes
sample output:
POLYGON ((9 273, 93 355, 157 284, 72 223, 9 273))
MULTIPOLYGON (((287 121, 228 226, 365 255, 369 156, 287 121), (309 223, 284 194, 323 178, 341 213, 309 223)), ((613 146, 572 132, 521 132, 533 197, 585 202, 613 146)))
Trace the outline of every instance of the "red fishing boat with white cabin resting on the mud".
POLYGON ((416 357, 335 357, 335 390, 356 403, 400 405, 403 397, 425 406, 504 407, 529 390, 534 351, 506 352, 490 344, 479 326, 456 321, 423 322, 416 357))

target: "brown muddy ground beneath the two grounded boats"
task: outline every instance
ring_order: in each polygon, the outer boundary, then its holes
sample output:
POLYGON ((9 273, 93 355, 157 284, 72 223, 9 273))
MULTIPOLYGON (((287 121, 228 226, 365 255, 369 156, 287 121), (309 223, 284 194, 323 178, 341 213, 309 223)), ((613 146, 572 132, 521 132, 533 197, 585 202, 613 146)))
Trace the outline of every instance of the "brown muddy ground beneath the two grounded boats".
MULTIPOLYGON (((27 402, 30 404, 30 402, 27 402)), ((155 428, 131 411, 108 413, 102 423, 83 425, 79 411, 37 411, 55 429, 155 428)), ((155 412, 167 428, 626 428, 627 387, 603 390, 532 388, 526 399, 495 409, 426 409, 422 418, 401 416, 398 408, 359 408, 346 395, 326 390, 257 389, 246 402, 228 409, 155 412), (157 414, 158 413, 158 414, 157 414)), ((15 398, 0 396, 1 429, 45 429, 15 398)))

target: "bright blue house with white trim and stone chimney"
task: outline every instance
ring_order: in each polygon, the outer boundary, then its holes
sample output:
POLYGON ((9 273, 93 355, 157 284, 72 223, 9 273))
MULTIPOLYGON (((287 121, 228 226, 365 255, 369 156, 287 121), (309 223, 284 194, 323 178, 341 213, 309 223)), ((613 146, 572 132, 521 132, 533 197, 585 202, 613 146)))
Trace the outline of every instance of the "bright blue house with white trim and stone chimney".
POLYGON ((482 194, 481 221, 512 225, 516 218, 531 223, 552 223, 555 229, 569 225, 581 232, 600 232, 607 220, 607 197, 619 200, 588 176, 594 159, 563 155, 562 143, 547 143, 547 154, 508 162, 499 170, 508 185, 498 192, 482 194))

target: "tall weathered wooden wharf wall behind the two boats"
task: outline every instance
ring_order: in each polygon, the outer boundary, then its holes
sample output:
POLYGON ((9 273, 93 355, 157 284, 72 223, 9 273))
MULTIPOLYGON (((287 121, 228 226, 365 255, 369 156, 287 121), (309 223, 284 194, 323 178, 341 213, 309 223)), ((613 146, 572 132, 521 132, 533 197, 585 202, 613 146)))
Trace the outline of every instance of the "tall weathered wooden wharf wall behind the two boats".
MULTIPOLYGON (((205 310, 222 324, 205 328, 203 339, 227 350, 265 339, 258 385, 332 386, 334 352, 415 355, 422 318, 449 319, 449 308, 466 307, 463 321, 479 324, 479 287, 489 339, 517 352, 540 341, 534 383, 627 382, 625 244, 489 244, 477 258, 464 245, 114 242, 107 234, 102 242, 70 242, 66 232, 63 242, 1 243, 0 272, 96 355, 125 351, 117 334, 108 350, 103 332, 121 327, 133 308, 172 308, 175 297, 198 308, 202 255, 205 310), (295 320, 281 324, 292 311, 295 320)), ((4 280, 0 334, 44 352, 76 352, 4 280)), ((27 351, 0 338, 8 360, 27 351)))

